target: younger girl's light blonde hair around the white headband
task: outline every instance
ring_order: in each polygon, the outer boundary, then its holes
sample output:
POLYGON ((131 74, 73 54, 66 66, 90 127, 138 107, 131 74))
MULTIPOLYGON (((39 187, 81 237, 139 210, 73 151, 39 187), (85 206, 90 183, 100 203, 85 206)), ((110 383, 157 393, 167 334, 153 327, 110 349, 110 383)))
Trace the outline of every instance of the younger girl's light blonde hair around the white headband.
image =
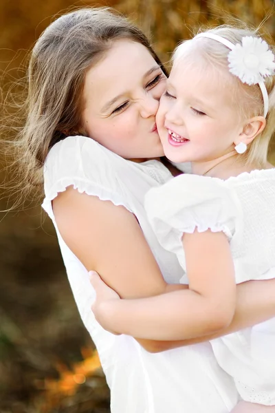
MULTIPOLYGON (((249 28, 237 28, 232 25, 222 25, 217 28, 211 28, 210 30, 204 30, 201 32, 208 32, 217 34, 224 39, 227 39, 233 44, 241 43, 241 39, 244 36, 259 37, 257 35, 258 30, 250 30, 249 28)), ((274 47, 270 45, 270 50, 274 52, 274 47)), ((197 39, 191 39, 182 42, 173 54, 173 61, 184 58, 184 64, 188 64, 188 57, 191 58, 189 63, 192 63, 194 56, 202 57, 207 63, 210 63, 212 67, 220 69, 221 76, 224 76, 224 70, 228 73, 228 53, 230 50, 228 47, 219 43, 218 41, 199 37, 197 39)), ((203 67, 205 70, 205 67, 203 67)), ((204 72, 205 73, 205 72, 204 72)), ((202 75, 203 76, 203 75, 202 75)), ((206 76, 206 74, 204 74, 206 76)), ((259 85, 246 85, 242 83, 239 78, 234 75, 230 77, 230 91, 232 90, 232 98, 234 98, 234 105, 239 109, 239 115, 243 118, 263 115, 263 95, 259 85)), ((275 131, 275 76, 269 76, 265 78, 265 86, 267 88, 267 94, 269 95, 269 107, 266 117, 265 129, 256 136, 254 140, 248 145, 248 150, 240 155, 245 157, 248 163, 256 163, 259 166, 264 166, 267 162, 267 153, 270 145, 270 140, 275 131)))

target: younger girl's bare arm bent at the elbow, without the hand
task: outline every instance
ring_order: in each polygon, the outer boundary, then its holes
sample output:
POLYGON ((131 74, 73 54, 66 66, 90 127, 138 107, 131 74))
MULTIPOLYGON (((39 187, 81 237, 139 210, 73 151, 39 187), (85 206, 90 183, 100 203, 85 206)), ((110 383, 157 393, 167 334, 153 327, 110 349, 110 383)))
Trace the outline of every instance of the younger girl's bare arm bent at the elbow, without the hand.
MULTIPOLYGON (((227 327, 234 316, 236 286, 230 246, 223 233, 185 234, 189 289, 146 299, 102 302, 104 328, 133 337, 179 340, 227 327), (221 275, 222 274, 222 275, 221 275)), ((95 306, 95 313, 96 306, 95 306)))

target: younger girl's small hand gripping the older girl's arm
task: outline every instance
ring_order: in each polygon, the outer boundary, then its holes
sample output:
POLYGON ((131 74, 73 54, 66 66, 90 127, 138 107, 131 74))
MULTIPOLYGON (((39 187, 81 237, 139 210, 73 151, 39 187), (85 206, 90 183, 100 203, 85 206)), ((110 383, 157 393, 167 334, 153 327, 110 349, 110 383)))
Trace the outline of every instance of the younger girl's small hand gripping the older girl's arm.
POLYGON ((102 281, 98 273, 96 271, 89 272, 89 278, 91 285, 94 287, 96 291, 96 299, 94 304, 91 306, 91 310, 96 317, 96 321, 104 328, 115 335, 119 335, 118 332, 115 332, 110 323, 110 304, 112 301, 117 301, 120 299, 118 293, 115 293, 107 284, 102 281))

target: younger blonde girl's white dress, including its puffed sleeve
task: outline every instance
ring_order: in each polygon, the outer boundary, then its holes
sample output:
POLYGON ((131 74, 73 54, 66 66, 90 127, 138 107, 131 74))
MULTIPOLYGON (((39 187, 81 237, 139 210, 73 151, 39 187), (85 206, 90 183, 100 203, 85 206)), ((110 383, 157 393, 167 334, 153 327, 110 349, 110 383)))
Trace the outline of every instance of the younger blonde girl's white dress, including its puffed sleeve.
MULTIPOLYGON (((197 228, 227 235, 237 284, 275 277, 275 169, 228 180, 181 175, 148 191, 145 208, 159 243, 184 271, 182 234, 197 228)), ((211 343, 244 400, 275 405, 275 318, 211 343)))

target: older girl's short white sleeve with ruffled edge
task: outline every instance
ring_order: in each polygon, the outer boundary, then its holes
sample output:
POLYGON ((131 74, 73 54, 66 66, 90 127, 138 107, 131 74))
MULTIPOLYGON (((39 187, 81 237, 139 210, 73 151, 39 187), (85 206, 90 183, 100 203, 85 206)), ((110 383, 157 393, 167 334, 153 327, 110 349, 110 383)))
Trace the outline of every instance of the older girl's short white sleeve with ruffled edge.
POLYGON ((54 218, 52 200, 73 185, 81 193, 110 200, 131 211, 118 179, 121 173, 115 173, 119 168, 123 168, 121 158, 91 138, 69 136, 61 140, 45 161, 43 209, 54 218))

